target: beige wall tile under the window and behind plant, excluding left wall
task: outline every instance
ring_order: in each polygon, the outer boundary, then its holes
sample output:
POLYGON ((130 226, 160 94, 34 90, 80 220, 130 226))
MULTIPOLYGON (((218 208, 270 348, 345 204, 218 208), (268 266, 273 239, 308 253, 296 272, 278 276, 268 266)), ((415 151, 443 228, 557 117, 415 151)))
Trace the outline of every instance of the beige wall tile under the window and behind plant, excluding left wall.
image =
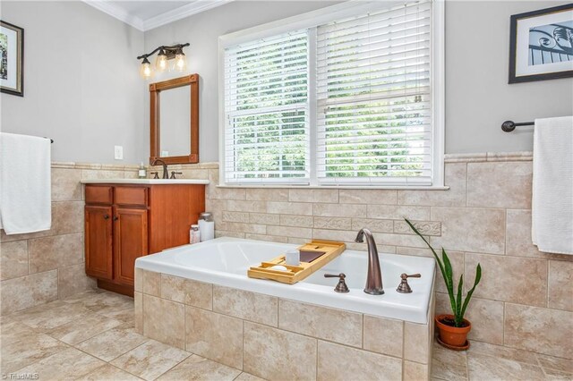
MULTIPOLYGON (((184 177, 210 179, 207 208, 217 236, 342 240, 365 250, 354 239, 368 227, 381 252, 430 256, 403 217, 415 220, 433 245, 449 251, 466 286, 482 264, 482 284, 467 311, 472 339, 573 359, 573 341, 565 340, 573 334, 573 256, 540 252, 531 243, 530 153, 449 155, 449 190, 219 188, 217 164, 182 168, 184 177)), ((437 312, 446 312, 438 276, 437 312)), ((387 288, 398 282, 384 279, 387 288)))

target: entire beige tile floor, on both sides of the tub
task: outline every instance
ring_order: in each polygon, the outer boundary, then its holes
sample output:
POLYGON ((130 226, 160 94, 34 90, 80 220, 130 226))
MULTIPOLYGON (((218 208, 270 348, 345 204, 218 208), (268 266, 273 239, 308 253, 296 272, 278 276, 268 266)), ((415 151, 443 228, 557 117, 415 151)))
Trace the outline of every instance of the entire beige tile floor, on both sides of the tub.
MULTIPOLYGON (((201 358, 134 330, 133 299, 83 292, 0 318, 3 378, 40 380, 237 380, 259 377, 201 358)), ((573 380, 573 361, 472 342, 433 349, 432 380, 573 380)))

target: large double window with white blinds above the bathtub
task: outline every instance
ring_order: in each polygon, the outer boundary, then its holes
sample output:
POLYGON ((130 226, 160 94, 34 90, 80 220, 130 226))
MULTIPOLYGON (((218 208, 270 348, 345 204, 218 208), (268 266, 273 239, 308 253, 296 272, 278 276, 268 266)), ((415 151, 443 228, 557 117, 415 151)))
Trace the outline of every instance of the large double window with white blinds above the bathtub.
POLYGON ((221 38, 227 185, 443 185, 443 4, 352 3, 221 38))

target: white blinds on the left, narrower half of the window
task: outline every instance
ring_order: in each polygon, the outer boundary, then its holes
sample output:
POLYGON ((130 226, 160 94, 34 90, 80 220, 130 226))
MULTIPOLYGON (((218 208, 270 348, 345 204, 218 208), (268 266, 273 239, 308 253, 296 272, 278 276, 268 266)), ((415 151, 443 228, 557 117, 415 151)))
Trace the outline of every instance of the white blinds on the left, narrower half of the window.
POLYGON ((225 50, 225 182, 308 183, 308 32, 225 50))

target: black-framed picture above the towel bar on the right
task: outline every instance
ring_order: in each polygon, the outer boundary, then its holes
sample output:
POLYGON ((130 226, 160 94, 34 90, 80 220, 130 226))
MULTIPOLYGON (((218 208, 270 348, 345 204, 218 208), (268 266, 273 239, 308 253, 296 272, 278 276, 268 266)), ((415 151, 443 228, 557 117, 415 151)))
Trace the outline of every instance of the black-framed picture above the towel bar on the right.
POLYGON ((573 77, 573 4, 511 16, 509 83, 573 77))

